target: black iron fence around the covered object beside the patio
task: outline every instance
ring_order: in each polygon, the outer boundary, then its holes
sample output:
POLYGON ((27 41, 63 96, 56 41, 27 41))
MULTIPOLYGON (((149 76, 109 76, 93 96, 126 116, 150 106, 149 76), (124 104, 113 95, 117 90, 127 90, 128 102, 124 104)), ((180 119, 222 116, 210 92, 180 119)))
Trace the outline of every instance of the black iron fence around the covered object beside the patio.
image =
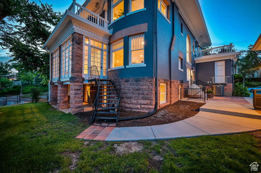
POLYGON ((208 100, 206 91, 206 89, 181 88, 180 99, 206 102, 208 100))

